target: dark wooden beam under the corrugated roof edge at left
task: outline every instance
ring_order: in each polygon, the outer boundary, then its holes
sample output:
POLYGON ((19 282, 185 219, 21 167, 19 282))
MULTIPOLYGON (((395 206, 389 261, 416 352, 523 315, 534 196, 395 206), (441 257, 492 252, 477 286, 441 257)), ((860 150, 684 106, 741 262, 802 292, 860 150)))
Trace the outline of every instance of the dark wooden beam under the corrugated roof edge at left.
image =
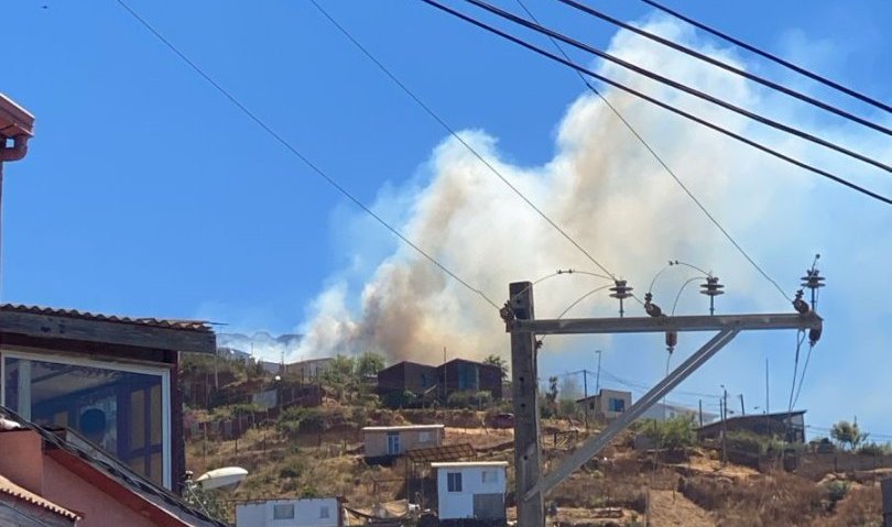
POLYGON ((198 353, 214 353, 217 349, 217 337, 213 331, 20 311, 0 311, 0 333, 198 353))

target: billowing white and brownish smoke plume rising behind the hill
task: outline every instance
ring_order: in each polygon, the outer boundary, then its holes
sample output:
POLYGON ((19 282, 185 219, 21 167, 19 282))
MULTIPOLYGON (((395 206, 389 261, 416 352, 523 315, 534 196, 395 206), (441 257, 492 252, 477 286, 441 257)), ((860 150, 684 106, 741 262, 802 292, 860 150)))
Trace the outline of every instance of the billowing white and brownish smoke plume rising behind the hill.
MULTIPOLYGON (((704 43, 672 22, 654 19, 646 28, 747 67, 735 53, 704 43)), ((618 33, 610 52, 726 100, 801 125, 817 125, 807 109, 781 103, 751 83, 629 33, 618 33)), ((739 116, 618 67, 595 67, 793 156, 839 165, 798 140, 765 131, 739 116)), ((813 250, 809 243, 803 244, 802 235, 814 220, 799 211, 816 186, 830 184, 621 91, 606 89, 605 94, 770 273, 786 270, 786 279, 802 273, 813 250), (770 235, 764 232, 766 223, 774 226, 770 235), (791 248, 804 252, 794 252, 795 261, 786 260, 781 254, 791 248)), ((823 128, 822 133, 836 139, 849 135, 833 128, 823 128)), ((543 166, 504 161, 497 140, 483 131, 465 131, 461 136, 608 270, 629 278, 640 295, 665 262, 677 257, 717 272, 746 306, 787 308, 591 92, 583 92, 568 107, 559 123, 556 154, 543 166)), ((376 209, 403 218, 398 228, 409 239, 497 304, 505 300, 510 282, 534 281, 557 268, 600 272, 455 139, 434 150, 425 171, 427 178, 421 185, 381 198, 376 209)), ((378 228, 369 222, 369 229, 378 228)), ((672 290, 656 289, 664 309, 671 308, 677 282, 689 275, 676 274, 672 290)), ((554 317, 601 284, 588 275, 543 282, 536 287, 536 314, 554 317)), ((784 287, 792 293, 795 282, 784 287)), ((603 292, 568 316, 616 309, 603 292)), ((301 356, 374 350, 393 360, 436 362, 444 347, 449 355, 480 359, 502 352, 507 342, 496 309, 404 245, 380 262, 361 292, 350 290, 347 278, 334 277, 300 332, 305 334, 301 356), (350 300, 353 295, 359 296, 357 306, 350 300)))

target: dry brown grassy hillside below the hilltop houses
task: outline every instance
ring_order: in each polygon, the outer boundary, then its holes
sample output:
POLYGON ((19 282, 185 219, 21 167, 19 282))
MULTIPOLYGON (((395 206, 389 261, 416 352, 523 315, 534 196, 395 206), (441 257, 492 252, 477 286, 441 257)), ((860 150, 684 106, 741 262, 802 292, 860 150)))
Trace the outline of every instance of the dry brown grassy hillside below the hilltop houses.
MULTIPOLYGON (((187 444, 187 464, 196 473, 224 465, 249 470, 242 486, 227 496, 231 514, 232 501, 239 499, 339 495, 350 508, 367 512, 404 499, 407 466, 403 461, 390 468, 366 465, 360 425, 444 422, 447 444, 470 443, 478 459, 512 462, 511 430, 486 428, 479 411, 369 411, 326 400, 312 416, 305 430, 265 422, 238 440, 195 437, 187 444)), ((567 428, 566 420, 543 424, 547 431, 567 428)), ((576 439, 583 440, 584 433, 576 439)), ((812 466, 805 477, 777 463, 762 471, 735 463, 722 466, 709 447, 657 453, 634 450, 631 443, 631 435, 620 438, 548 496, 546 503, 557 507, 554 525, 645 525, 648 517, 657 527, 880 525, 881 469, 822 473, 812 466)), ((546 462, 553 464, 574 444, 555 448, 554 436, 544 433, 546 462)), ((509 477, 510 491, 513 475, 509 477)), ((421 487, 428 496, 434 493, 429 482, 413 484, 413 495, 421 487)))

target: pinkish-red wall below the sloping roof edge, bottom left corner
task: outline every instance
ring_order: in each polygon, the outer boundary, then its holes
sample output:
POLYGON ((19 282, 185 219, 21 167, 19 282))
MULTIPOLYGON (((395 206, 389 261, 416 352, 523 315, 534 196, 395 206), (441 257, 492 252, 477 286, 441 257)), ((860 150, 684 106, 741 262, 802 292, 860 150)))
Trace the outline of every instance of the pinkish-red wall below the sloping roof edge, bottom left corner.
POLYGON ((43 497, 81 514, 84 519, 78 521, 78 527, 153 527, 137 512, 46 457, 43 458, 43 497))

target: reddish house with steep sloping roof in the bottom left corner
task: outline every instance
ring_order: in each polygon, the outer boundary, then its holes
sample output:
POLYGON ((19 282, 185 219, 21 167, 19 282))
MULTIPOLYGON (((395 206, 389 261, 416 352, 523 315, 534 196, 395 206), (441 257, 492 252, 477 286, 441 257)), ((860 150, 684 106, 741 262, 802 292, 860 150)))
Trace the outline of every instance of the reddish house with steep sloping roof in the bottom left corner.
MULTIPOLYGON (((127 463, 77 432, 46 429, 0 408, 0 504, 8 496, 28 504, 24 513, 44 523, 0 525, 76 525, 77 527, 225 527, 182 498, 139 474, 127 463), (4 497, 6 495, 6 497, 4 497), (52 514, 51 514, 52 513, 52 514)), ((134 463, 135 464, 135 463, 134 463)))

